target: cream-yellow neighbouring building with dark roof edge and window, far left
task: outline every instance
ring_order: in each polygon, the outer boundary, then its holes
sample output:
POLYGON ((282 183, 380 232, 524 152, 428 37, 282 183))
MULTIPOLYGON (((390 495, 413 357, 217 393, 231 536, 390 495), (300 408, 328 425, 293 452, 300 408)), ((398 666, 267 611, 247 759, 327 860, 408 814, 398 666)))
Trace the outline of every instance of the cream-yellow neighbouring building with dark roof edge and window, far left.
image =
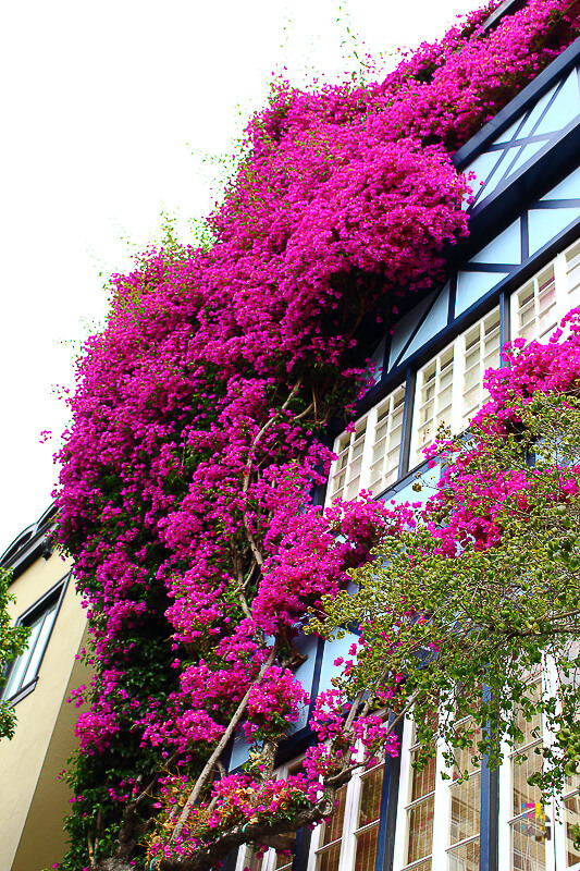
POLYGON ((12 571, 11 616, 30 628, 27 649, 10 666, 1 690, 17 714, 14 737, 0 743, 2 871, 42 871, 65 852, 62 821, 70 792, 58 775, 75 748, 78 714, 66 699, 89 676, 75 660, 86 618, 72 565, 47 541, 53 522, 51 507, 0 557, 12 571))

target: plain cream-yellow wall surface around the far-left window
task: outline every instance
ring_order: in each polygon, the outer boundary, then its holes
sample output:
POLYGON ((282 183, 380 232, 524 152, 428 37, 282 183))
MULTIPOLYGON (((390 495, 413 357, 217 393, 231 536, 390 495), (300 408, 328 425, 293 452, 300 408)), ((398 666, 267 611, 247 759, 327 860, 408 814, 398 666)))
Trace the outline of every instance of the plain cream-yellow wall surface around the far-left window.
MULTIPOLYGON (((71 568, 53 553, 37 560, 12 584, 14 618, 33 605, 71 568)), ((57 775, 75 746, 78 711, 66 704, 71 689, 88 683, 75 653, 83 647, 85 612, 73 579, 52 628, 35 689, 16 704, 17 726, 11 741, 0 741, 0 869, 41 871, 62 858, 62 818, 69 789, 57 775)))

